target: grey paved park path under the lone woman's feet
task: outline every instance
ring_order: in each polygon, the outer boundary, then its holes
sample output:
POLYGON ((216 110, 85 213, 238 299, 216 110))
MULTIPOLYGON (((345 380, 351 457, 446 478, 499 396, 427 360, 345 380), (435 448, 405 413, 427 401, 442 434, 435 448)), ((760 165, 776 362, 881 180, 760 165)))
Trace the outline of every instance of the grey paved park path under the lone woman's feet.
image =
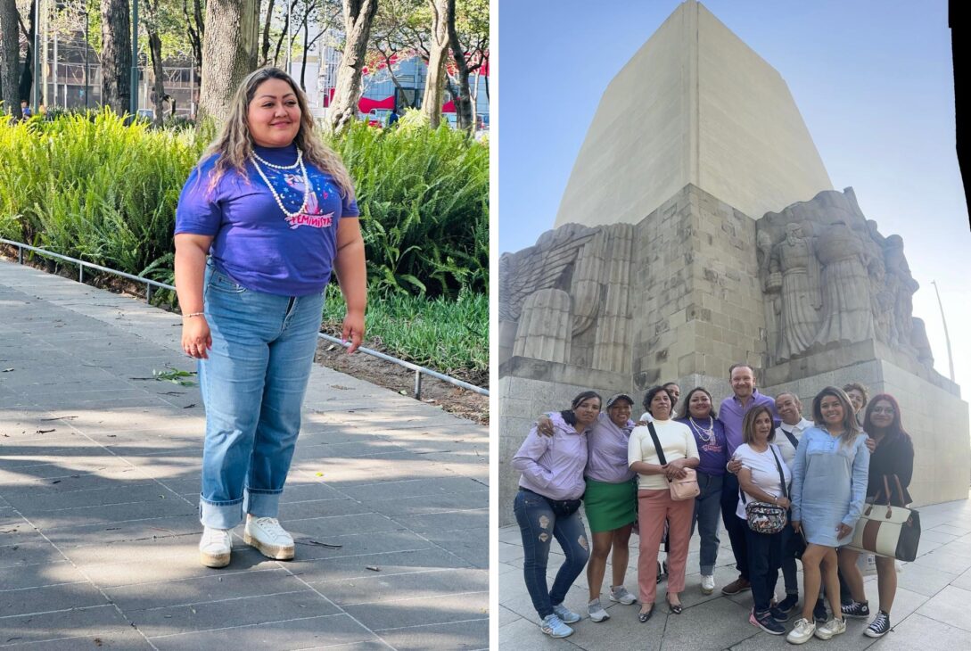
POLYGON ((204 415, 177 315, 0 260, 0 647, 488 646, 488 432, 315 367, 297 558, 199 565, 204 415))

